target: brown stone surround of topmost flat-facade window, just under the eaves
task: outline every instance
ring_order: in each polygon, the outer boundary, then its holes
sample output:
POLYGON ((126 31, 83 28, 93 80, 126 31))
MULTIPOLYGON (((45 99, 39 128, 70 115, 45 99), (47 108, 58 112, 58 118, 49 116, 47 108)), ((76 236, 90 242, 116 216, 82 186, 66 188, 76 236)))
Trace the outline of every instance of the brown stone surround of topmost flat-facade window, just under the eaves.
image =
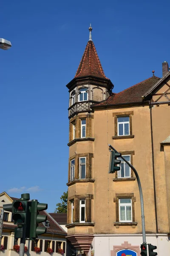
POLYGON ((133 111, 127 111, 127 112, 116 112, 116 113, 112 113, 113 117, 115 119, 114 122, 114 136, 112 137, 113 140, 117 140, 117 139, 130 139, 130 138, 134 138, 134 135, 132 134, 132 116, 134 114, 133 111), (129 135, 123 135, 123 136, 118 136, 117 134, 117 118, 118 117, 122 117, 122 116, 129 116, 129 130, 130 130, 130 134, 129 135))

